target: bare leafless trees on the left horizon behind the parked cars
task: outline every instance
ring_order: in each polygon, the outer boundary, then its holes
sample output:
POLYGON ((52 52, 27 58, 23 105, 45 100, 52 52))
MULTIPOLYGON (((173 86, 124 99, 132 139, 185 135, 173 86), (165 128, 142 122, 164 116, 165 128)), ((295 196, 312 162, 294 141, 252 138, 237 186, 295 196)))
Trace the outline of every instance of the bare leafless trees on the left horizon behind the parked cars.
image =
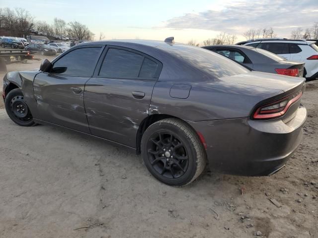
POLYGON ((69 36, 78 40, 92 40, 94 34, 84 24, 78 21, 66 22, 54 18, 54 23, 35 21, 27 10, 23 8, 0 8, 0 29, 9 36, 23 37, 31 30, 47 33, 49 36, 69 36))

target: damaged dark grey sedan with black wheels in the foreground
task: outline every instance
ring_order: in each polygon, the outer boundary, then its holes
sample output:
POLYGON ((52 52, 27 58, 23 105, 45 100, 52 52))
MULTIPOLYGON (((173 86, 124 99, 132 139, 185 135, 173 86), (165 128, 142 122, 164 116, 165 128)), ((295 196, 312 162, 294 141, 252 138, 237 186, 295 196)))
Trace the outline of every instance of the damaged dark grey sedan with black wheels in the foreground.
POLYGON ((305 79, 250 71, 183 44, 79 44, 40 70, 9 72, 15 123, 62 126, 141 153, 150 173, 182 186, 212 170, 267 176, 302 140, 305 79))

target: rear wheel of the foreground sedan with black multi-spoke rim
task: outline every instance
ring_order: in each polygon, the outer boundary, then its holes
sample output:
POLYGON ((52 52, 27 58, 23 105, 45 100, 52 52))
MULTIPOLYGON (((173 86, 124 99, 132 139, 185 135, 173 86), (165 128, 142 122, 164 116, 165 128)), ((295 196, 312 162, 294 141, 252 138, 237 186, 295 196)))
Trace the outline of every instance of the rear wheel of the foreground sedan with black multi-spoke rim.
POLYGON ((206 165, 199 136, 180 119, 162 119, 151 124, 141 141, 144 163, 159 181, 184 186, 196 179, 206 165))

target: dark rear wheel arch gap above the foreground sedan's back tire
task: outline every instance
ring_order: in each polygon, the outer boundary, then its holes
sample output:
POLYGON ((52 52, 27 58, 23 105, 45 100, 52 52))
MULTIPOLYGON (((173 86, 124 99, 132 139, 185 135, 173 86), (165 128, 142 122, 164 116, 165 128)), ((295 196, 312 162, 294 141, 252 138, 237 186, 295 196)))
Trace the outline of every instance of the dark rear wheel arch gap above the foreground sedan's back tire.
MULTIPOLYGON (((146 129, 152 125, 153 123, 162 120, 162 119, 167 119, 167 118, 174 118, 174 119, 180 119, 172 115, 167 115, 167 114, 153 114, 148 116, 147 118, 143 119, 143 121, 140 123, 137 135, 136 135, 136 153, 139 155, 141 153, 141 139, 143 137, 143 134, 145 133, 146 129)), ((196 131, 187 121, 182 120, 184 123, 189 125, 194 131, 196 131)), ((204 145, 205 141, 204 138, 202 138, 202 135, 198 134, 199 139, 201 143, 204 145)))

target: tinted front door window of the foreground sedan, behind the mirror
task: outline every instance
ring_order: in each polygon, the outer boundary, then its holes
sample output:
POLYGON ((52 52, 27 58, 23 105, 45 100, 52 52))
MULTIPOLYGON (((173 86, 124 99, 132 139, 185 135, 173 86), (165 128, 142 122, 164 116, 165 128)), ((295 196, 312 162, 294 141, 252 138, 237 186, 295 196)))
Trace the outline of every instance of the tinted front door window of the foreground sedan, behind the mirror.
POLYGON ((88 77, 93 74, 100 47, 81 48, 71 51, 54 63, 55 67, 67 67, 64 75, 88 77))

